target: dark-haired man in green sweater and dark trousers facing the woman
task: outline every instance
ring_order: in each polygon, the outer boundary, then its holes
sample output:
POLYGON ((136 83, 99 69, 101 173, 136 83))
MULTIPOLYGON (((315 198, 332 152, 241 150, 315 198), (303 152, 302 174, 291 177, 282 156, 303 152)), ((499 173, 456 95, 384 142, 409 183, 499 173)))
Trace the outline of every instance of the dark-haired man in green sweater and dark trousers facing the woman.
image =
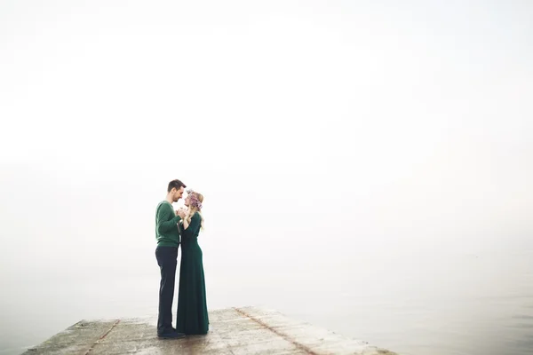
POLYGON ((166 199, 157 205, 155 212, 155 239, 157 240, 155 257, 161 269, 157 317, 157 336, 160 338, 178 339, 185 336, 172 327, 172 300, 178 265, 178 224, 181 217, 184 217, 183 211, 179 211, 179 215, 176 216, 172 203, 179 201, 185 187, 187 186, 181 181, 172 180, 167 188, 166 199))

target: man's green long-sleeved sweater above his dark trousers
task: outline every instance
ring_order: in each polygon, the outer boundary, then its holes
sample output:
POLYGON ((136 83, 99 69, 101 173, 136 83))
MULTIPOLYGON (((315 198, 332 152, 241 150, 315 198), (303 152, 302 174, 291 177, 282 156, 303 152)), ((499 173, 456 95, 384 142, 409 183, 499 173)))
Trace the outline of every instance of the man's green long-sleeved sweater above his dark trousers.
POLYGON ((179 247, 180 220, 181 217, 176 216, 169 201, 159 202, 155 213, 155 239, 158 247, 179 247))

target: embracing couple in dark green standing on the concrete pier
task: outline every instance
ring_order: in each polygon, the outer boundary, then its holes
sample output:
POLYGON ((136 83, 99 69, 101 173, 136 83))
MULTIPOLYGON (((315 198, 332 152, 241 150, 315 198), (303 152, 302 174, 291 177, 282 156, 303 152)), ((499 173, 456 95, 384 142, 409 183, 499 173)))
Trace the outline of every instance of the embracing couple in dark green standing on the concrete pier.
POLYGON ((157 317, 157 336, 160 338, 177 339, 185 335, 206 334, 209 330, 202 249, 197 240, 203 227, 203 195, 187 190, 187 209, 174 210, 172 207, 172 203, 183 196, 186 187, 181 181, 172 180, 167 188, 166 200, 157 205, 155 213, 155 257, 161 269, 157 317), (172 300, 180 243, 178 315, 176 328, 173 328, 172 300))

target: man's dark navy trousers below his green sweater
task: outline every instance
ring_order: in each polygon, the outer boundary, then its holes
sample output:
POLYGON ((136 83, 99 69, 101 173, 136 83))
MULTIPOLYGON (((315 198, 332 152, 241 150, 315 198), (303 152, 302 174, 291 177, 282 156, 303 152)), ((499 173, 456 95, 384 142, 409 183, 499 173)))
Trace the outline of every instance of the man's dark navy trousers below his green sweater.
POLYGON ((174 299, 176 266, 178 265, 178 248, 157 247, 155 248, 155 257, 161 270, 157 334, 162 335, 172 331, 172 300, 174 299))

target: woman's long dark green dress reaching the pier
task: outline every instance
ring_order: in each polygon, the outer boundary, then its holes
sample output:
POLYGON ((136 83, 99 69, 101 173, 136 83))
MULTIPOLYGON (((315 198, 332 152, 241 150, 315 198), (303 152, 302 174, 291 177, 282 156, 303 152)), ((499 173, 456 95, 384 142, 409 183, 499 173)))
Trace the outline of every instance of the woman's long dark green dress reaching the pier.
POLYGON ((187 335, 206 334, 209 330, 202 249, 198 245, 201 223, 202 217, 196 212, 187 229, 181 226, 176 330, 187 335))

